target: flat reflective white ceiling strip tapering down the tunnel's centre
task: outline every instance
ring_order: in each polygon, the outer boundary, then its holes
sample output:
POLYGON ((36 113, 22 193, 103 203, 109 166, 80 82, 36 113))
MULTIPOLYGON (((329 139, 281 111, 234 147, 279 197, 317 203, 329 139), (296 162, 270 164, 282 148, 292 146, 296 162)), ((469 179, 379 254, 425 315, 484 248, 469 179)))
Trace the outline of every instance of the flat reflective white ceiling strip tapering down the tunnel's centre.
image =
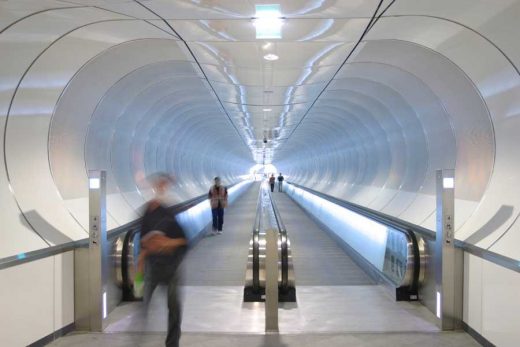
POLYGON ((186 42, 255 160, 269 163, 339 70, 380 1, 276 1, 283 17, 280 39, 256 39, 255 5, 272 1, 62 2, 164 19, 154 23, 186 42), (279 59, 265 60, 269 53, 279 59))

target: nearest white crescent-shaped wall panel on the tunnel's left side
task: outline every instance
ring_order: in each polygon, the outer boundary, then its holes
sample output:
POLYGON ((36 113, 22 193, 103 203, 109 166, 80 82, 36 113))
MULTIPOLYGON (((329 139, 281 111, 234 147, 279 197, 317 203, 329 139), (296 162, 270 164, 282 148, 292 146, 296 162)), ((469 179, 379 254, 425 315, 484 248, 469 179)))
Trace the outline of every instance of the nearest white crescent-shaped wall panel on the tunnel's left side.
MULTIPOLYGON (((114 40, 131 40, 139 33, 146 35, 147 30, 150 34, 157 32, 149 24, 130 22, 99 23, 81 28, 55 42, 24 76, 13 100, 6 128, 6 160, 12 173, 11 186, 18 203, 26 212, 26 218, 37 229, 58 230, 69 239, 85 237, 86 214, 78 225, 75 216, 65 208, 49 172, 47 142, 50 118, 63 88, 85 61, 114 45, 114 40), (111 32, 106 41, 98 37, 98 33, 104 30, 111 32), (59 66, 55 64, 57 60, 60 61, 59 66), (38 85, 42 78, 53 74, 59 77, 52 88, 47 87, 42 92, 33 87, 34 83, 38 85), (31 122, 31 126, 27 122, 31 122), (24 161, 20 158, 31 160, 24 161), (34 172, 38 173, 36 177, 34 172), (53 208, 49 208, 50 206, 53 208), (27 214, 30 211, 38 211, 38 217, 27 214)), ((157 35, 163 36, 160 31, 157 35)), ((109 223, 109 226, 112 225, 114 224, 109 223)), ((51 240, 51 243, 56 242, 51 240)))

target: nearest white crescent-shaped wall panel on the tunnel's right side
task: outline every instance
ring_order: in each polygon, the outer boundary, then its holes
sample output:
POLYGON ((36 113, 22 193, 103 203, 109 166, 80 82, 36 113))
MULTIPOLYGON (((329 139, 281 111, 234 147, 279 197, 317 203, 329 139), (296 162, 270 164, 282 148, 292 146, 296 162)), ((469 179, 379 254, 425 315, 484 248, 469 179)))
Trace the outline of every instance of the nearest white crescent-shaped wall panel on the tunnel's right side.
MULTIPOLYGON (((457 232, 457 237, 467 238, 475 231, 489 225, 488 223, 500 213, 502 206, 505 208, 508 206, 513 207, 509 217, 506 220, 502 220, 500 225, 493 230, 488 230, 487 233, 481 232, 478 244, 488 247, 511 226, 518 214, 514 208, 518 203, 516 201, 518 194, 510 189, 514 185, 513 181, 515 181, 510 172, 515 171, 514 168, 518 164, 517 156, 513 154, 513 148, 515 147, 513 144, 515 135, 513 133, 515 131, 512 129, 517 127, 517 117, 514 116, 516 113, 514 110, 518 98, 514 98, 513 95, 518 95, 518 92, 520 92, 518 89, 520 76, 515 67, 511 65, 511 61, 476 32, 440 19, 421 18, 421 21, 414 20, 411 22, 412 28, 413 26, 417 28, 412 31, 419 30, 419 27, 444 27, 446 28, 445 31, 450 32, 451 35, 445 37, 444 41, 439 40, 439 38, 432 40, 427 37, 410 37, 410 31, 403 32, 398 29, 400 20, 403 20, 403 18, 385 18, 381 23, 386 24, 382 25, 379 30, 371 33, 371 36, 374 35, 372 36, 374 38, 388 38, 389 35, 394 37, 398 35, 403 40, 409 40, 437 50, 440 54, 456 63, 458 68, 464 71, 464 74, 478 90, 477 95, 480 95, 485 102, 486 111, 489 112, 489 117, 493 122, 493 136, 488 136, 488 138, 494 140, 495 147, 493 174, 487 184, 486 194, 479 201, 477 209, 457 232), (464 50, 460 49, 461 42, 464 42, 464 50), (472 52, 478 52, 478 55, 472 52), (497 78, 500 78, 501 81, 498 82, 497 78), (500 203, 497 204, 496 198, 498 196, 500 196, 500 203)), ((410 24, 410 21, 408 23, 410 24)), ((452 117, 456 119, 455 115, 452 115, 452 117)), ((471 142, 468 144, 470 145, 469 148, 472 148, 471 142)), ((473 151, 469 149, 467 152, 473 151)), ((473 162, 468 163, 468 165, 472 164, 473 162)), ((471 171, 472 175, 465 175, 464 177, 473 177, 475 174, 481 174, 475 169, 471 171)), ((457 176, 460 177, 460 174, 457 176)), ((509 256, 513 256, 513 254, 511 253, 509 256)))

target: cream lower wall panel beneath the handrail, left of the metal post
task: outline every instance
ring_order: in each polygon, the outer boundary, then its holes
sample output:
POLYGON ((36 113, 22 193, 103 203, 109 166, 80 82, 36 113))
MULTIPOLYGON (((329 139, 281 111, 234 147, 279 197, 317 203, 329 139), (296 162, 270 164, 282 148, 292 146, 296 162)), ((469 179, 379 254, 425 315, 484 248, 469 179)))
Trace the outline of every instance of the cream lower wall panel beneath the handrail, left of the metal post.
POLYGON ((74 254, 0 270, 0 345, 23 347, 74 322, 74 254))

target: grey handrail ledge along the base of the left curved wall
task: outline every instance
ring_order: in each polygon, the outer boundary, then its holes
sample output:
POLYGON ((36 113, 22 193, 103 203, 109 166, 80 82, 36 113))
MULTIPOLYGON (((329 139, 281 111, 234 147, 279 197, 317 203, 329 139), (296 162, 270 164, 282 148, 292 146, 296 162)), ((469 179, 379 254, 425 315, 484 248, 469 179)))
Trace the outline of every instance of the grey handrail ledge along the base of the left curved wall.
MULTIPOLYGON (((239 183, 240 182, 235 182, 228 187, 231 188, 239 183)), ((190 200, 187 200, 187 201, 184 201, 179 204, 171 206, 169 208, 169 211, 174 214, 181 213, 181 212, 186 211, 186 210, 190 209, 191 207, 203 202, 207 198, 208 198, 207 194, 202 194, 202 195, 196 196, 190 200)), ((115 238, 115 237, 119 236, 120 234, 128 231, 129 229, 139 226, 140 221, 141 221, 141 218, 138 218, 127 224, 121 225, 117 228, 107 231, 107 239, 115 238)), ((70 241, 70 242, 59 244, 59 245, 54 245, 54 246, 50 246, 50 247, 46 247, 46 248, 42 248, 42 249, 30 251, 30 252, 19 253, 17 255, 1 258, 0 259, 0 270, 7 269, 7 268, 10 268, 13 266, 17 266, 17 265, 20 265, 23 263, 29 263, 29 262, 32 262, 35 260, 48 258, 53 255, 66 253, 66 252, 72 251, 77 248, 87 247, 88 243, 89 243, 89 239, 84 238, 84 239, 80 239, 80 240, 70 241)))

